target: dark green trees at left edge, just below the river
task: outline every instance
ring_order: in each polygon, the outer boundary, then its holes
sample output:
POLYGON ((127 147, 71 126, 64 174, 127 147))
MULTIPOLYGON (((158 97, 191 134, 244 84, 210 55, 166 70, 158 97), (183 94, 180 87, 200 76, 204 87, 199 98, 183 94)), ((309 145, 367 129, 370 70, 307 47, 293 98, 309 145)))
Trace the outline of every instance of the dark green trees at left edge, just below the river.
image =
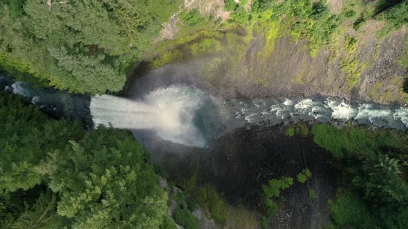
POLYGON ((0 190, 28 190, 53 170, 54 150, 81 137, 80 123, 48 119, 15 94, 0 93, 0 190), (49 155, 48 155, 49 154, 49 155))

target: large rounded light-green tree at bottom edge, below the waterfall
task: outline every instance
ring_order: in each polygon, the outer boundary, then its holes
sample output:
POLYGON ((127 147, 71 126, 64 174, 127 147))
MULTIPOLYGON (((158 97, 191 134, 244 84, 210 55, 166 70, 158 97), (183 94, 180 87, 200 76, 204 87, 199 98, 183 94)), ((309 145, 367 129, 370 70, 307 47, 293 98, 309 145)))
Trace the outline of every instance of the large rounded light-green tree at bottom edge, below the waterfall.
POLYGON ((131 135, 100 127, 71 144, 50 176, 58 215, 80 228, 160 226, 167 193, 131 135))

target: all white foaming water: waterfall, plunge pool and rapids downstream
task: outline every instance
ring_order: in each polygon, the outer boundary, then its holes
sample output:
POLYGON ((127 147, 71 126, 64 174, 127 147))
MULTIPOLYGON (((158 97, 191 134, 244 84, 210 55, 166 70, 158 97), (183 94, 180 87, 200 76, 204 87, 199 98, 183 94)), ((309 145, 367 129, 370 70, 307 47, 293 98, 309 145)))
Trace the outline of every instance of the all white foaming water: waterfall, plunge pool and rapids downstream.
MULTIPOLYGON (((41 94, 24 83, 16 82, 12 88, 15 93, 30 97, 33 103, 55 103, 49 98, 55 95, 41 94)), ((202 133, 207 137, 218 135, 219 126, 237 128, 260 121, 272 124, 353 121, 373 128, 408 129, 408 108, 402 106, 352 105, 335 98, 228 101, 209 98, 196 88, 169 86, 149 92, 139 101, 111 95, 93 97, 90 110, 95 126, 111 124, 128 130, 153 130, 162 139, 196 147, 205 146, 202 133), (207 108, 209 102, 216 108, 207 108), (201 120, 199 127, 195 123, 196 116, 201 120)))

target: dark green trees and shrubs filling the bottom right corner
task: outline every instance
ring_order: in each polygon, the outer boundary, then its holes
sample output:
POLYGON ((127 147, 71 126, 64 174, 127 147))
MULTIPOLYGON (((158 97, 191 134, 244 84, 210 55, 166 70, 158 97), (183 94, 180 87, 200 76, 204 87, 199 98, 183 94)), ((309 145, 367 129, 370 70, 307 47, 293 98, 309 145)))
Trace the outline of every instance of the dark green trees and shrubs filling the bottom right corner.
POLYGON ((337 226, 405 228, 408 184, 402 172, 407 169, 406 136, 327 124, 314 125, 312 132, 319 146, 346 158, 340 164, 344 190, 331 205, 337 226))

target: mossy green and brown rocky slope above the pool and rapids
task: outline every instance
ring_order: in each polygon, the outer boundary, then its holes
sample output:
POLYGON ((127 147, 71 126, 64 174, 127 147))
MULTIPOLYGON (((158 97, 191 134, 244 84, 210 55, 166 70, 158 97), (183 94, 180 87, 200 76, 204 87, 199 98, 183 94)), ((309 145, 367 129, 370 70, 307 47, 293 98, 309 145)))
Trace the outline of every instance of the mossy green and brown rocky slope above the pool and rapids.
MULTIPOLYGON (((329 1, 328 7, 338 13, 345 6, 343 1, 329 1)), ((172 20, 174 34, 158 42, 145 59, 152 68, 203 59, 197 77, 226 96, 320 94, 382 104, 408 101, 403 90, 408 70, 400 64, 408 50, 405 26, 378 38, 383 21, 369 19, 356 29, 355 22, 346 19, 328 45, 312 53, 310 39, 294 39, 288 20, 218 27, 211 21, 186 26, 178 15, 172 20)), ((220 16, 218 21, 224 20, 220 16)))

